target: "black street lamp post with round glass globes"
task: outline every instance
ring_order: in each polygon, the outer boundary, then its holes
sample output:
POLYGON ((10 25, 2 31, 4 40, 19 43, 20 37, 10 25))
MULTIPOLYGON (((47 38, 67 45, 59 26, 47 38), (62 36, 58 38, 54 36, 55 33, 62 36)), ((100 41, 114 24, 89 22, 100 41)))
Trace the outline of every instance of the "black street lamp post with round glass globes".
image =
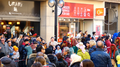
POLYGON ((64 6, 64 1, 63 0, 49 0, 48 1, 49 7, 54 7, 55 6, 55 40, 57 41, 57 17, 58 17, 58 7, 62 8, 64 6))

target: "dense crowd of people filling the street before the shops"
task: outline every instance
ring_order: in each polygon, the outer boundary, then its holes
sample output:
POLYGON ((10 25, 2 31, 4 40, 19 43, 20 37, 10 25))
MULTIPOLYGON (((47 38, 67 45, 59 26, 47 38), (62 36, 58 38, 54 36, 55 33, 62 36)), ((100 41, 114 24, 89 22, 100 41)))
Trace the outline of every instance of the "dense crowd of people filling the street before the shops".
POLYGON ((96 38, 81 30, 61 43, 36 35, 5 37, 0 33, 0 67, 120 67, 120 37, 106 32, 96 38))

